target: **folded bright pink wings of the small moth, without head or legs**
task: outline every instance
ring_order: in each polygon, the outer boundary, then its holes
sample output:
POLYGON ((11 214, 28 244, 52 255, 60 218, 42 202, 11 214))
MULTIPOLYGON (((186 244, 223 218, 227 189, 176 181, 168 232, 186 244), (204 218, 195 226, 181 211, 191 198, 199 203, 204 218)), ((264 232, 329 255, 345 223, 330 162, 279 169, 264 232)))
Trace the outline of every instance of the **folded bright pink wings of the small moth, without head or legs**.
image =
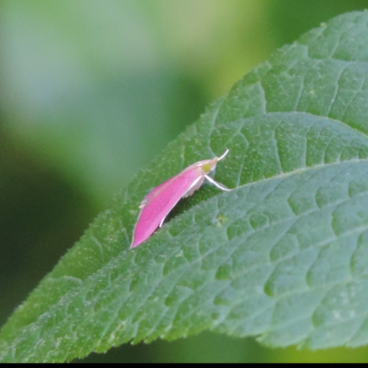
POLYGON ((137 247, 145 241, 188 191, 193 182, 202 176, 200 167, 192 165, 149 192, 142 201, 141 213, 135 225, 130 248, 137 247))

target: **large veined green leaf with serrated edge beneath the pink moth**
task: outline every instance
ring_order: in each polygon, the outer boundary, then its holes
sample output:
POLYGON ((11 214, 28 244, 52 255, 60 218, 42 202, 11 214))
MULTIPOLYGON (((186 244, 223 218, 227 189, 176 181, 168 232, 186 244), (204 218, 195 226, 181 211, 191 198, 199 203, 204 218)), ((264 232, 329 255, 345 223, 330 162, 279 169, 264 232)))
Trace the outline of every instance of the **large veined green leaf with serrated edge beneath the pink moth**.
POLYGON ((368 13, 278 50, 141 171, 1 330, 62 362, 210 329, 269 346, 368 341, 368 13), (216 180, 129 250, 138 205, 198 160, 216 180))

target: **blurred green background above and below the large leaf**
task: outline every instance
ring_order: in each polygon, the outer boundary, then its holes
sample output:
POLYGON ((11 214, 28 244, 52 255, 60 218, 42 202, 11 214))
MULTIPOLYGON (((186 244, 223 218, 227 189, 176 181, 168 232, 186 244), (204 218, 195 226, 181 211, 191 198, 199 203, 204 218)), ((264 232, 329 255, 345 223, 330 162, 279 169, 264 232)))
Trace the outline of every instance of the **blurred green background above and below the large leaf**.
MULTIPOLYGON (((1 0, 0 325, 137 171, 270 53, 368 0, 1 0)), ((83 362, 364 362, 204 332, 83 362)))

